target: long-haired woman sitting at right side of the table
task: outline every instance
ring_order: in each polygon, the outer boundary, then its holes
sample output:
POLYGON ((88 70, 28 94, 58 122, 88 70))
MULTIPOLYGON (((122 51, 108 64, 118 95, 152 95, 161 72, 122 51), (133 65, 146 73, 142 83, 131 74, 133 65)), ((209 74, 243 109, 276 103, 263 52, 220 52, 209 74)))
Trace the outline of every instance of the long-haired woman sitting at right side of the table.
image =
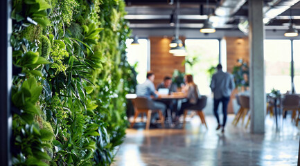
POLYGON ((182 107, 180 111, 177 112, 176 120, 178 121, 179 116, 184 113, 184 110, 188 107, 191 107, 197 104, 197 100, 199 99, 200 93, 197 85, 193 81, 193 75, 185 75, 184 82, 186 85, 182 88, 182 92, 186 95, 187 101, 182 102, 182 107))

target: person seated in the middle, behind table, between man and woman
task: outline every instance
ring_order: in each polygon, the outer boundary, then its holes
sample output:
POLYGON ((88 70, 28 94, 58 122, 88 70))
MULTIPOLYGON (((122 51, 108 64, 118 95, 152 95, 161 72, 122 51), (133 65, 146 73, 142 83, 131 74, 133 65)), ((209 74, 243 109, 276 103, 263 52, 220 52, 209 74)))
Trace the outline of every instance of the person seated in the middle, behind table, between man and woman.
MULTIPOLYGON (((168 89, 169 94, 177 92, 177 86, 176 84, 172 84, 171 77, 169 76, 164 77, 164 82, 161 82, 161 84, 157 86, 157 91, 159 91, 159 89, 168 89)), ((177 100, 161 100, 159 102, 166 104, 167 109, 170 109, 171 113, 177 112, 177 100)), ((168 114, 166 114, 166 117, 167 116, 168 114)))

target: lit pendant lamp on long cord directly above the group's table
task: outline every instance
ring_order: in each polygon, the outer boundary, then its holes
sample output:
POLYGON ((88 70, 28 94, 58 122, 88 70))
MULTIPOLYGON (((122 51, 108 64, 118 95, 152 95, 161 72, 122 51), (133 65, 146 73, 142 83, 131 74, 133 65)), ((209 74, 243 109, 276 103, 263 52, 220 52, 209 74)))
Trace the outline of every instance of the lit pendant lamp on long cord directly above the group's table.
POLYGON ((170 50, 169 53, 172 53, 173 55, 177 56, 185 56, 184 53, 186 53, 186 48, 184 48, 184 44, 182 44, 182 40, 179 39, 179 0, 177 0, 177 6, 175 10, 176 14, 176 26, 175 26, 175 37, 173 37, 173 40, 170 42, 170 50))

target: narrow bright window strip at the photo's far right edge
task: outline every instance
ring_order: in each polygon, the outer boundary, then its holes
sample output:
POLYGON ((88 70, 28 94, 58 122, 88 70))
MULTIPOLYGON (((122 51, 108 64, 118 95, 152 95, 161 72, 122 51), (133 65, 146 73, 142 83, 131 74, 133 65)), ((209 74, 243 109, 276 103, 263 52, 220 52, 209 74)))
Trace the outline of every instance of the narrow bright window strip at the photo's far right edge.
POLYGON ((294 49, 294 89, 300 93, 300 40, 293 41, 294 49))

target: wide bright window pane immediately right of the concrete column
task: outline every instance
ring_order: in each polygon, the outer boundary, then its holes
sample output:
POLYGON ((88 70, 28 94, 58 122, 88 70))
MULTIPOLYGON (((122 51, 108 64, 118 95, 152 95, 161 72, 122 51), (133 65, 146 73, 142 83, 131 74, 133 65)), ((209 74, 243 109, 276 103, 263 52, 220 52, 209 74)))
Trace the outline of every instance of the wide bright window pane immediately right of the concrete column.
POLYGON ((278 89, 281 93, 291 90, 291 42, 288 39, 267 39, 264 42, 265 91, 278 89))

